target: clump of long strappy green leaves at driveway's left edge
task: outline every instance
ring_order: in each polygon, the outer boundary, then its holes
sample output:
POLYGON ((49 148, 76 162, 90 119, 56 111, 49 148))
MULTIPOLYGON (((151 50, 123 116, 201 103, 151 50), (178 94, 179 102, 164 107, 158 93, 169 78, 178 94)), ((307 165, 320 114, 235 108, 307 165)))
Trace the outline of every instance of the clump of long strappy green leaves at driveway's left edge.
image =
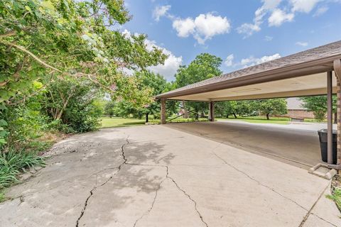
POLYGON ((4 201, 4 189, 18 182, 18 175, 35 166, 44 166, 44 158, 35 152, 24 150, 0 153, 0 202, 4 201))

